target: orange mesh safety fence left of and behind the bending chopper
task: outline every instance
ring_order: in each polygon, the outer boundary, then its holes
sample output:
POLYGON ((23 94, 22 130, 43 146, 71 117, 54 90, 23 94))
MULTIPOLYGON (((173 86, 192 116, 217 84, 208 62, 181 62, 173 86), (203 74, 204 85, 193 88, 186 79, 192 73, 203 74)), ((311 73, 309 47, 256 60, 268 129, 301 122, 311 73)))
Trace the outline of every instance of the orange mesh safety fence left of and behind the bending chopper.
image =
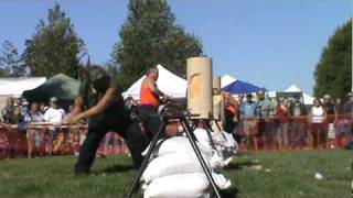
MULTIPOLYGON (((77 155, 87 133, 86 124, 0 123, 0 158, 77 155)), ((103 139, 97 155, 128 153, 125 141, 114 132, 103 139)))

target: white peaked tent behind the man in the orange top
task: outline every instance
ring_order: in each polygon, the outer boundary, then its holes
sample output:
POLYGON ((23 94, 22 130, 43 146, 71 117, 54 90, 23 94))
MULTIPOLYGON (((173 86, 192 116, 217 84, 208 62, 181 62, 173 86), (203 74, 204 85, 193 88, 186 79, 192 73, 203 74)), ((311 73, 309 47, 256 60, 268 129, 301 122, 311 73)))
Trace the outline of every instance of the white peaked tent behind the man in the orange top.
MULTIPOLYGON (((161 91, 173 98, 183 98, 186 96, 188 81, 185 79, 174 75, 161 65, 158 65, 157 68, 159 69, 157 86, 161 91)), ((133 99, 140 99, 140 89, 145 77, 146 76, 143 75, 132 84, 126 92, 122 92, 122 97, 127 98, 131 96, 133 99)))

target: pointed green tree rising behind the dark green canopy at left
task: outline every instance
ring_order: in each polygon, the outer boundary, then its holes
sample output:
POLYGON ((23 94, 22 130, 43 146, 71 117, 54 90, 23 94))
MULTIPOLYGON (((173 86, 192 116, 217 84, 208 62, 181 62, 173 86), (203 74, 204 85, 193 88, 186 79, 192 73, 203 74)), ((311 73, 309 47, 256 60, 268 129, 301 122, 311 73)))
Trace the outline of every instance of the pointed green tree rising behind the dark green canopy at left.
POLYGON ((57 73, 77 78, 85 44, 75 33, 71 19, 60 4, 49 10, 47 23, 40 20, 31 40, 25 41, 24 62, 32 76, 52 77, 57 73))

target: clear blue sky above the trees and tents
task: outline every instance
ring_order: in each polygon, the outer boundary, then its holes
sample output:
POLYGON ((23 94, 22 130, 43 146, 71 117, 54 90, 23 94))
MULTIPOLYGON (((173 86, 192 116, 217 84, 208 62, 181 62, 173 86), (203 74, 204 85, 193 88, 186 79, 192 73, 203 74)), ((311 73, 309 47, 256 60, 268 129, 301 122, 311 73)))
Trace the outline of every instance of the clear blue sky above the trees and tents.
MULTIPOLYGON (((0 43, 23 52, 54 0, 1 0, 0 43)), ((56 0, 85 41, 93 63, 109 59, 127 18, 127 0, 56 0)), ((311 94, 313 70, 333 31, 351 18, 350 0, 168 0, 181 24, 203 43, 215 75, 311 94)))

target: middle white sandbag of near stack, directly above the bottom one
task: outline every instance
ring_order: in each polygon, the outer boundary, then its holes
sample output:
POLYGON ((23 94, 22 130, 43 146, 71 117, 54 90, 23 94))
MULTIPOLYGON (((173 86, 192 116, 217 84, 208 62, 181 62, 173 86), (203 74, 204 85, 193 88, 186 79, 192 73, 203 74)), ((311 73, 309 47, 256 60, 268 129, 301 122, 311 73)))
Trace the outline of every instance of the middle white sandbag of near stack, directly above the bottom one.
MULTIPOLYGON (((210 168, 210 163, 205 161, 210 168)), ((196 155, 193 153, 178 152, 152 160, 145 169, 141 180, 150 183, 168 175, 204 173, 196 155)))

